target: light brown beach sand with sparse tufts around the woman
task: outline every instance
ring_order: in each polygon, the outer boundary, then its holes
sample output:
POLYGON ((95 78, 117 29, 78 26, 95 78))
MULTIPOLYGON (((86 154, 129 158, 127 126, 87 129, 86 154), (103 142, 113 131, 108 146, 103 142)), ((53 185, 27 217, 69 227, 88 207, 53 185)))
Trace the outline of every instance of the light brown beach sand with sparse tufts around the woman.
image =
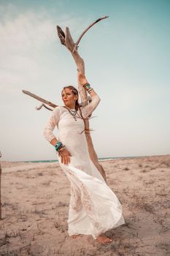
POLYGON ((70 184, 58 162, 1 162, 0 255, 170 255, 170 155, 101 165, 125 218, 108 245, 69 237, 70 184))

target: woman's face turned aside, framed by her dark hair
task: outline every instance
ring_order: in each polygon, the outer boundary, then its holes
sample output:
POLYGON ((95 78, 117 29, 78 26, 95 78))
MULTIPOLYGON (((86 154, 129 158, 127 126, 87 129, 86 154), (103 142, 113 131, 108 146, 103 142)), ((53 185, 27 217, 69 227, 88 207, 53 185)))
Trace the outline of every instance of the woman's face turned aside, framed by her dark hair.
POLYGON ((68 108, 75 107, 77 95, 74 95, 74 93, 71 91, 71 89, 69 89, 69 88, 63 89, 61 96, 63 99, 63 103, 64 103, 64 105, 66 105, 66 107, 68 107, 68 108))

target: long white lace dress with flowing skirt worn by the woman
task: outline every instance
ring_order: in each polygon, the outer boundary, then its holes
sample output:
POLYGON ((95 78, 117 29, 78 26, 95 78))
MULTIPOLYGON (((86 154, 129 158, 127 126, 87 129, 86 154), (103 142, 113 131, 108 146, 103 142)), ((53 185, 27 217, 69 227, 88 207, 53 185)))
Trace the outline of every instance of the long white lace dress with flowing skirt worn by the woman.
MULTIPOLYGON (((100 98, 92 97, 92 102, 82 108, 82 116, 88 118, 95 110, 100 98)), ((68 233, 92 235, 96 239, 101 233, 125 223, 122 206, 96 166, 90 160, 85 137, 84 121, 76 118, 63 106, 53 110, 43 134, 47 141, 53 140, 53 129, 58 127, 58 140, 72 154, 70 164, 58 162, 71 184, 69 203, 68 233), (82 133, 81 133, 82 132, 82 133)))

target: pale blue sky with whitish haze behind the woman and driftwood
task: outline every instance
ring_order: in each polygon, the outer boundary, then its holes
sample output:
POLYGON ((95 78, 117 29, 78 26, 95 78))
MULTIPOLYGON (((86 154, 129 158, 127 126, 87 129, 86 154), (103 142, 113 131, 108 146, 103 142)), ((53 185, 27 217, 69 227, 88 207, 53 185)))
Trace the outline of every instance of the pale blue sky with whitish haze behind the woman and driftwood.
MULTIPOLYGON (((170 154, 169 0, 0 0, 1 160, 57 159, 42 131, 50 116, 31 91, 63 105, 77 69, 56 25, 80 42, 85 75, 101 102, 90 120, 98 157, 170 154)), ((55 129, 55 135, 58 135, 55 129)))

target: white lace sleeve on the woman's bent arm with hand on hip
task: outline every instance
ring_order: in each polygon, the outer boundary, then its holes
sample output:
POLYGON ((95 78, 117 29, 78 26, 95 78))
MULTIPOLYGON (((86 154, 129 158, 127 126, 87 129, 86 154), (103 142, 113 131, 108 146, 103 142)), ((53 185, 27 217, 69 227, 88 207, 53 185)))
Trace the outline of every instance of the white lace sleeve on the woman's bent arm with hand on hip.
POLYGON ((60 119, 60 108, 57 107, 53 110, 53 112, 45 126, 45 129, 43 130, 43 135, 45 136, 45 138, 48 142, 51 142, 51 140, 56 138, 55 135, 53 134, 53 129, 58 124, 59 119, 60 119))

